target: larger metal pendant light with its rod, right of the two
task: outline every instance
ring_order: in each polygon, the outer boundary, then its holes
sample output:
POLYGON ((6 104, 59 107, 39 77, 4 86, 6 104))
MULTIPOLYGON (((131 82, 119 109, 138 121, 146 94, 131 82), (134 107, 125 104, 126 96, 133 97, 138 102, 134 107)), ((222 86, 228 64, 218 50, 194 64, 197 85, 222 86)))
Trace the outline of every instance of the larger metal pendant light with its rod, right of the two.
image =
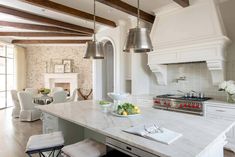
POLYGON ((150 40, 148 29, 139 27, 139 20, 140 20, 139 0, 138 0, 137 14, 138 14, 137 27, 129 30, 129 34, 123 51, 124 52, 134 51, 136 53, 153 51, 153 46, 150 40))

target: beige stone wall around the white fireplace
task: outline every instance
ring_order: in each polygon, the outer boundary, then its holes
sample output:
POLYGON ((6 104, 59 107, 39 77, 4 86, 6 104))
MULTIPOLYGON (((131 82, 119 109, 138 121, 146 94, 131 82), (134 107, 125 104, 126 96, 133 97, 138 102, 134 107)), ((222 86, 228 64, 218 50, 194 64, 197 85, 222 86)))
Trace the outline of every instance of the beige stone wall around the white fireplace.
POLYGON ((74 72, 79 73, 79 88, 90 90, 92 88, 92 61, 83 59, 84 52, 85 45, 27 46, 27 87, 44 87, 46 63, 49 63, 51 59, 73 59, 74 72))

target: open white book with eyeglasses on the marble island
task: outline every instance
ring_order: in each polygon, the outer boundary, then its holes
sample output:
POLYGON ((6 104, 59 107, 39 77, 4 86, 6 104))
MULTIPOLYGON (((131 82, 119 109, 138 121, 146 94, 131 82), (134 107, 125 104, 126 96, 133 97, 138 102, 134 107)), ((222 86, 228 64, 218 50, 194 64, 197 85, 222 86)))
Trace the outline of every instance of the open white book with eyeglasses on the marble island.
POLYGON ((138 125, 123 131, 168 145, 182 136, 180 133, 158 127, 155 124, 138 125))

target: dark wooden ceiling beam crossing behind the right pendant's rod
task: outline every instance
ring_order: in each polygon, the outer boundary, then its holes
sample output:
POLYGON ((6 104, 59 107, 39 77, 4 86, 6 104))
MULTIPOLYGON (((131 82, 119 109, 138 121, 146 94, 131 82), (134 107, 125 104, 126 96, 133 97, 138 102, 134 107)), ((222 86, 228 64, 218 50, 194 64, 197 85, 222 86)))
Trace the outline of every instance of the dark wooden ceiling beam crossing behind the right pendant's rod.
MULTIPOLYGON (((121 0, 96 0, 96 1, 137 17, 137 8, 121 0)), ((153 23, 155 16, 140 10, 140 19, 153 23)))

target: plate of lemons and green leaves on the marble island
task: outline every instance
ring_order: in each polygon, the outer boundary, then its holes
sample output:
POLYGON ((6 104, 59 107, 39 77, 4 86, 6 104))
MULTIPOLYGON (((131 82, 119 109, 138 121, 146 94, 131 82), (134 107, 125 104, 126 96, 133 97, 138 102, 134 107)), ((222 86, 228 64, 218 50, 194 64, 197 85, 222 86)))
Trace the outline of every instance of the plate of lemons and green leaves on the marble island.
POLYGON ((132 117, 140 115, 140 109, 134 104, 123 103, 118 105, 117 110, 113 111, 113 114, 118 117, 132 117))

